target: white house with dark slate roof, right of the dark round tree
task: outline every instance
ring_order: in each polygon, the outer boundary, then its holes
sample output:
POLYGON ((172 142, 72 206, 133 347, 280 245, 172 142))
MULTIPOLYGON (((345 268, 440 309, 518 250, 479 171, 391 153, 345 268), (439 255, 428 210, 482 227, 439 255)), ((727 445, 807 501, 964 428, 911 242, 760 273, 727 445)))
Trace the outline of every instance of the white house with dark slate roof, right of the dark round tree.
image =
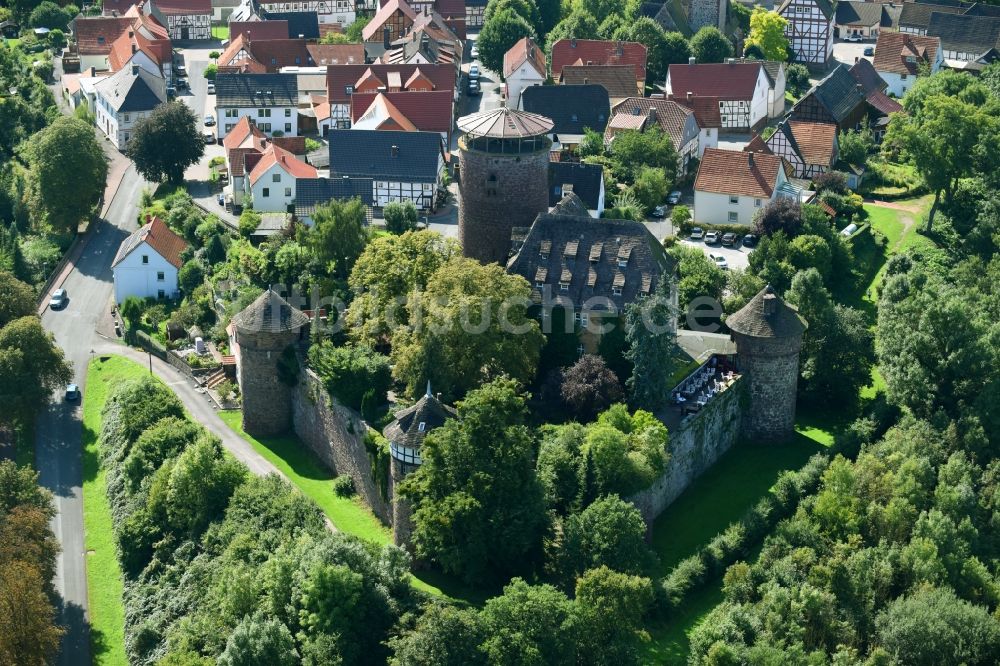
POLYGON ((265 134, 297 136, 299 86, 295 74, 219 74, 215 77, 216 130, 220 139, 240 118, 265 134))

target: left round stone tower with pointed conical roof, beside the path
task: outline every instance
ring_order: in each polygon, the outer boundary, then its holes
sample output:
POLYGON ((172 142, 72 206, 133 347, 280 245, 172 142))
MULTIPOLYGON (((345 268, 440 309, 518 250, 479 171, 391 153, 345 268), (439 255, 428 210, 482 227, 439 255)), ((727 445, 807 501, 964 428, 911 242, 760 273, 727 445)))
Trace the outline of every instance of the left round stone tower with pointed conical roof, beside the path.
POLYGON ((292 420, 292 389, 278 377, 278 359, 299 340, 309 317, 268 289, 233 317, 243 429, 254 436, 277 435, 292 420))

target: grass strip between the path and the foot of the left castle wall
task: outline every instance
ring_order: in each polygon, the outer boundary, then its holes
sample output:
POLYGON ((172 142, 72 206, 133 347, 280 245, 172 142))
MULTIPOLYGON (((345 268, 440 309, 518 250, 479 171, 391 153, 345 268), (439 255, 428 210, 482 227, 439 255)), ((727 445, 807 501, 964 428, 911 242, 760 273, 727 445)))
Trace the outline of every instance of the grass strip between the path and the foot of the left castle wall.
MULTIPOLYGON (((333 494, 334 474, 294 435, 257 439, 243 430, 243 417, 239 411, 220 412, 219 416, 257 453, 281 470, 303 495, 316 502, 338 530, 379 545, 392 543, 392 532, 360 498, 338 497, 333 494)), ((424 592, 477 605, 498 592, 469 588, 454 578, 433 570, 415 572, 413 586, 424 592)))

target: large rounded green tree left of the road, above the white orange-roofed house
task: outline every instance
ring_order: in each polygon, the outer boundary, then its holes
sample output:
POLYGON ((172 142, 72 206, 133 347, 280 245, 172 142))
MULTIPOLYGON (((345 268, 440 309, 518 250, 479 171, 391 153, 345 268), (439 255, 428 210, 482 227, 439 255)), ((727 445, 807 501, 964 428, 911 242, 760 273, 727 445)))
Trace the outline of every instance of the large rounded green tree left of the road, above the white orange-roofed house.
POLYGON ((94 128, 59 118, 28 142, 31 204, 58 231, 76 231, 104 194, 108 158, 94 128))

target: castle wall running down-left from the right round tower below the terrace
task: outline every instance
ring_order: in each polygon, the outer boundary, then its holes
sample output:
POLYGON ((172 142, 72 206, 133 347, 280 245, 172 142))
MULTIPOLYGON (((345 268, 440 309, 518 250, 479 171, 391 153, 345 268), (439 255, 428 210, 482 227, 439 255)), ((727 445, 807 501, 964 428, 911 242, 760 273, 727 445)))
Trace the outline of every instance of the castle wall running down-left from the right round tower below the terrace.
POLYGON ((739 439, 746 385, 745 377, 738 378, 694 418, 670 432, 670 459, 663 474, 649 488, 629 498, 648 527, 739 439))

